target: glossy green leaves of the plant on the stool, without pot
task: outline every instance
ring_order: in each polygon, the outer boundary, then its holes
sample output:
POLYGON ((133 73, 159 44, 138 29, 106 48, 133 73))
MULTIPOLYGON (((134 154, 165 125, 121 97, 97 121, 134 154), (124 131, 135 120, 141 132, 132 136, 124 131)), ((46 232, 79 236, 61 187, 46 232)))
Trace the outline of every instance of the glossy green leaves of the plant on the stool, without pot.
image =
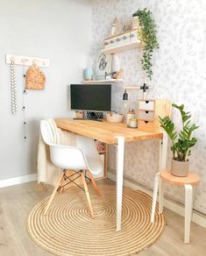
POLYGON ((191 123, 191 114, 184 111, 184 105, 178 106, 173 104, 173 107, 181 112, 182 129, 177 132, 175 125, 170 117, 159 117, 160 126, 167 132, 168 137, 172 140, 171 150, 173 159, 178 161, 187 161, 191 151, 190 148, 195 146, 197 139, 192 137, 198 126, 191 123))

